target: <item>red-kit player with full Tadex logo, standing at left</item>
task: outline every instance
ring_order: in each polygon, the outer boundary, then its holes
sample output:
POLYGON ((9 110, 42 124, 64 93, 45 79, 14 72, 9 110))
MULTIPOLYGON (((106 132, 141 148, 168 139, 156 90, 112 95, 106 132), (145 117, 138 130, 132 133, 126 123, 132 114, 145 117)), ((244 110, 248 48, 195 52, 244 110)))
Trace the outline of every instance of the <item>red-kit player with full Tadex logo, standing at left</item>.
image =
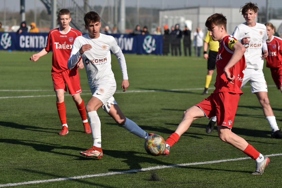
POLYGON ((78 68, 83 69, 84 65, 82 61, 80 61, 72 70, 69 70, 67 67, 72 43, 76 37, 82 35, 80 31, 70 27, 70 21, 70 11, 61 9, 58 14, 60 27, 50 30, 46 47, 39 53, 33 54, 30 57, 31 61, 37 61, 41 56, 44 56, 53 50, 51 73, 54 91, 56 92, 57 97, 57 109, 62 123, 62 130, 59 135, 66 135, 69 133, 64 102, 64 92, 67 92, 67 87, 80 113, 84 132, 91 133, 91 128, 86 116, 85 105, 80 97, 81 88, 78 68))

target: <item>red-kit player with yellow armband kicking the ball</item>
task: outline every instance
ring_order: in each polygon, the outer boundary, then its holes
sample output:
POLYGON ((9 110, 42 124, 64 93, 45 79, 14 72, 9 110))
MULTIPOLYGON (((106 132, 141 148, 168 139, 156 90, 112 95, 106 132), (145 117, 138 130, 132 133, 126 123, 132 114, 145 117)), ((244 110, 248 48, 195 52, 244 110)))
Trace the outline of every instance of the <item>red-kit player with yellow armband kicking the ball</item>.
POLYGON ((219 41, 215 90, 208 98, 184 112, 181 123, 166 139, 166 150, 163 155, 169 154, 170 147, 186 132, 192 121, 200 117, 216 116, 219 138, 255 159, 256 170, 252 174, 262 174, 269 158, 231 131, 239 96, 243 94, 240 87, 246 68, 244 56, 246 49, 233 36, 227 34, 226 24, 226 17, 218 13, 211 15, 206 21, 212 40, 219 41))

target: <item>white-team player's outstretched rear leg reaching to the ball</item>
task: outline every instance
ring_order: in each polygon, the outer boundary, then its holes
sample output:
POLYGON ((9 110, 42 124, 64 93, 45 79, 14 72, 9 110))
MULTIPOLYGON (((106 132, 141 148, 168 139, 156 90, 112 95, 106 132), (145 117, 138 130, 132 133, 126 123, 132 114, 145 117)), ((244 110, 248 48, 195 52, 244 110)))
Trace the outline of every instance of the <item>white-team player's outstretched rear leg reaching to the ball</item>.
POLYGON ((108 113, 114 119, 114 121, 116 121, 116 123, 123 126, 125 129, 128 130, 128 132, 135 134, 136 136, 144 139, 146 139, 149 136, 149 134, 146 131, 144 131, 142 128, 140 128, 134 121, 125 117, 117 104, 110 104, 110 110, 108 113))

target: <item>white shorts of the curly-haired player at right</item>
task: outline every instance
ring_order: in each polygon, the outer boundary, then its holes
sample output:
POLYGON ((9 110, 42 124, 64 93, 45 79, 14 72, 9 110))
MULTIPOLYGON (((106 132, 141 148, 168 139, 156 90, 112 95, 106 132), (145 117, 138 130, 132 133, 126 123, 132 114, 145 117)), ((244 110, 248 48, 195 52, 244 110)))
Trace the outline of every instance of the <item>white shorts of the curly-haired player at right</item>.
POLYGON ((241 88, 243 88, 247 82, 250 82, 251 84, 252 93, 256 93, 259 91, 267 92, 267 84, 262 69, 246 68, 241 88))

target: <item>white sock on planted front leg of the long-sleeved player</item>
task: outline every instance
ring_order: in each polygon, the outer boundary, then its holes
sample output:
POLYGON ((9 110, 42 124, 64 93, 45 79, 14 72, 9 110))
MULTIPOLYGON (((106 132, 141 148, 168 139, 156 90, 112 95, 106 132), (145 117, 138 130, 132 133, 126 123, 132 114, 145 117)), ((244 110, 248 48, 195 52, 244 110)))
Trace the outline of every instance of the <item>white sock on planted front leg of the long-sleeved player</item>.
POLYGON ((97 111, 91 111, 91 112, 88 112, 87 114, 88 114, 89 121, 90 121, 93 145, 95 142, 97 143, 100 142, 101 144, 101 122, 97 114, 97 111))

